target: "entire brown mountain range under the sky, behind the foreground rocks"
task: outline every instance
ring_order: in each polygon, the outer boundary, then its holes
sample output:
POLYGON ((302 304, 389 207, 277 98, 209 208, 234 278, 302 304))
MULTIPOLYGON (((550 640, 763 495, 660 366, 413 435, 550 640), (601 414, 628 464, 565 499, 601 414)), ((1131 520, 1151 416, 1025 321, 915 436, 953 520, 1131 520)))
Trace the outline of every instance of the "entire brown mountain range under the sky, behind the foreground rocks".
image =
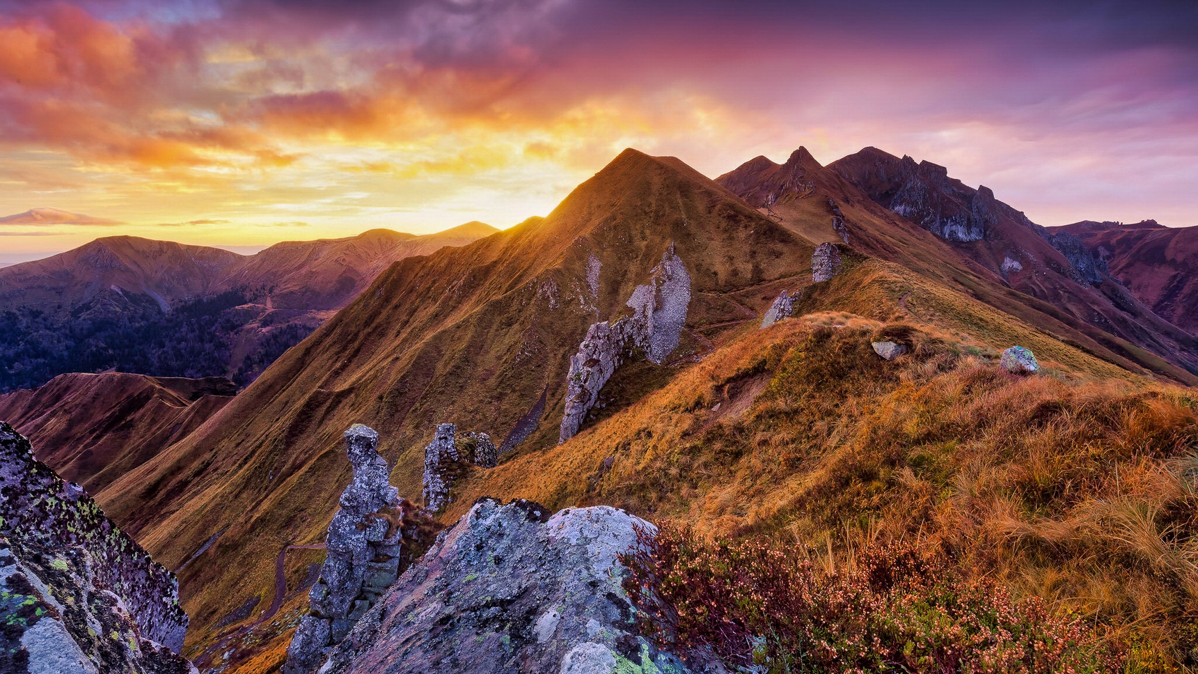
MULTIPOLYGON (((323 541, 358 423, 413 501, 437 425, 495 439, 498 465, 446 477, 442 524, 482 497, 616 505, 829 562, 859 529, 932 536, 1012 592, 1099 597, 1077 606, 1182 652, 1163 631, 1187 615, 1188 572, 1136 556, 1120 541, 1145 528, 1111 504, 1187 503, 1143 485, 1181 480, 1198 428, 1192 230, 1107 224, 1043 228, 873 148, 715 180, 625 150, 546 217, 464 225, 453 246, 374 231, 250 259, 103 239, 0 270, 0 300, 74 324, 238 294, 225 374, 273 326, 319 326, 232 397, 63 374, 0 396, 0 419, 176 570, 184 655, 213 670, 282 664, 320 554, 288 550, 323 541), (999 366, 1016 344, 1040 374, 999 366)), ((1181 559, 1193 522, 1168 517, 1160 546, 1181 559)))

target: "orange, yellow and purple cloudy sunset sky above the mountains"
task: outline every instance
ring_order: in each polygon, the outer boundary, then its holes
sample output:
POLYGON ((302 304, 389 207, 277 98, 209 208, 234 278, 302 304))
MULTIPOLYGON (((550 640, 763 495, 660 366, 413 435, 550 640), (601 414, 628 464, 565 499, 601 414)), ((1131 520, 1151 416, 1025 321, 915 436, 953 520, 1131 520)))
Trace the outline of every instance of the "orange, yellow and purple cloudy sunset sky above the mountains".
POLYGON ((1198 224, 1198 2, 0 0, 0 261, 545 215, 622 149, 1198 224), (1051 6, 1049 6, 1051 5, 1051 6))

